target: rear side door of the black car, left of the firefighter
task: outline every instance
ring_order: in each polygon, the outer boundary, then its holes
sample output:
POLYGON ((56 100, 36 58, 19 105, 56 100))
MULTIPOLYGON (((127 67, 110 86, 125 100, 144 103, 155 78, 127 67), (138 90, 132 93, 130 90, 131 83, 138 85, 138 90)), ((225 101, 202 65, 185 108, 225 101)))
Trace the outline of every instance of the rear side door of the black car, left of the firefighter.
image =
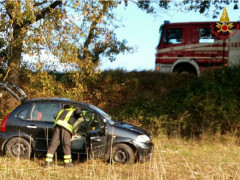
POLYGON ((46 151, 53 134, 53 114, 60 109, 56 102, 35 102, 30 109, 22 110, 19 117, 24 121, 24 131, 35 141, 35 151, 46 151))

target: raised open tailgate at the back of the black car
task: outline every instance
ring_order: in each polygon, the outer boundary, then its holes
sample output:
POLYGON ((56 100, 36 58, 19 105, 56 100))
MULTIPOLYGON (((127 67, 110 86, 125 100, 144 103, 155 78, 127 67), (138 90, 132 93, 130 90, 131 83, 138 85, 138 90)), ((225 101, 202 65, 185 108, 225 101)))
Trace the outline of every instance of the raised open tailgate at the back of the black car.
POLYGON ((0 88, 10 93, 14 98, 16 98, 21 103, 24 103, 27 99, 27 95, 18 85, 14 85, 10 82, 0 81, 0 88))

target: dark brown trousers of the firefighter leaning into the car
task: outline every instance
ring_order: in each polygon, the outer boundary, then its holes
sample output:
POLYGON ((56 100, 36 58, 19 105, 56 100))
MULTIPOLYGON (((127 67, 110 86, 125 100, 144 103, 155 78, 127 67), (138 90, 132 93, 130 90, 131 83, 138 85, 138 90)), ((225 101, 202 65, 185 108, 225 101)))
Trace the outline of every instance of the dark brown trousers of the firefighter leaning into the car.
POLYGON ((53 131, 52 141, 50 143, 50 147, 48 149, 48 153, 54 154, 59 146, 60 142, 63 146, 64 155, 71 155, 71 138, 72 134, 66 130, 65 128, 56 125, 53 131))

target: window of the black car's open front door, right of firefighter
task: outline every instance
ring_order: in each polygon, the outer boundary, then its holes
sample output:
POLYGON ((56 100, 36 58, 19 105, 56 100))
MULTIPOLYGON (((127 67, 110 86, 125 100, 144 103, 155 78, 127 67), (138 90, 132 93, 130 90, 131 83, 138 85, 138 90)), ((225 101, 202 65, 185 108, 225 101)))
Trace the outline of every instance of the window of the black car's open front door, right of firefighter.
POLYGON ((87 130, 100 129, 103 121, 98 114, 89 110, 82 110, 84 119, 86 121, 87 130))

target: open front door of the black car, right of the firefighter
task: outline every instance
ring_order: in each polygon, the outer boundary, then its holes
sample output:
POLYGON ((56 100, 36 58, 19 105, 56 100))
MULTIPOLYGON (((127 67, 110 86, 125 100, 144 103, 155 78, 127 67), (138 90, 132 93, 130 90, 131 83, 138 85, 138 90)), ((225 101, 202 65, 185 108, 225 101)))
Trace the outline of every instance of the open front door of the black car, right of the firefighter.
POLYGON ((106 152, 106 125, 92 110, 82 109, 82 114, 86 122, 87 153, 92 157, 101 157, 106 152))

